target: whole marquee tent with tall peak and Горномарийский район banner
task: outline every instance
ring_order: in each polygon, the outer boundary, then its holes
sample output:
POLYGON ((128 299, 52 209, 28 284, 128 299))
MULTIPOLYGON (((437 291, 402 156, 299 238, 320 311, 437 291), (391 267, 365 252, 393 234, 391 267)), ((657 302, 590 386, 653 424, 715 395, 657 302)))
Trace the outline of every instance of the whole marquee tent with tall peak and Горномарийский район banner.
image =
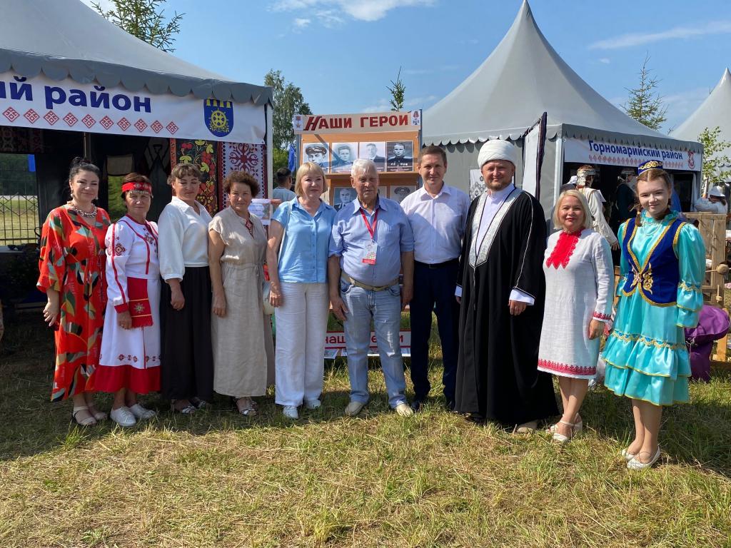
MULTIPOLYGON (((548 131, 540 201, 548 212, 566 182, 564 162, 637 167, 664 159, 670 169, 700 170, 702 146, 648 129, 596 93, 539 30, 527 1, 493 53, 424 113, 425 145, 442 145, 452 184, 467 189, 482 142, 522 136, 543 113, 548 131)), ((518 167, 517 180, 520 180, 518 167)))

